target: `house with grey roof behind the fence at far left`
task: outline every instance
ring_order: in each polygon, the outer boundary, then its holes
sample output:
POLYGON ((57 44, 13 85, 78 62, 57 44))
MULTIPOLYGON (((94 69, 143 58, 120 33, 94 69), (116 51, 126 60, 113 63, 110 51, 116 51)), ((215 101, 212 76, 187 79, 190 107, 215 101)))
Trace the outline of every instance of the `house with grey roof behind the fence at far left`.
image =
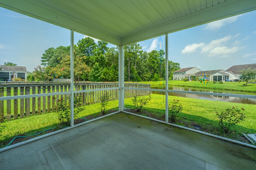
POLYGON ((27 68, 24 66, 6 66, 0 65, 0 81, 8 81, 13 77, 27 78, 27 68))

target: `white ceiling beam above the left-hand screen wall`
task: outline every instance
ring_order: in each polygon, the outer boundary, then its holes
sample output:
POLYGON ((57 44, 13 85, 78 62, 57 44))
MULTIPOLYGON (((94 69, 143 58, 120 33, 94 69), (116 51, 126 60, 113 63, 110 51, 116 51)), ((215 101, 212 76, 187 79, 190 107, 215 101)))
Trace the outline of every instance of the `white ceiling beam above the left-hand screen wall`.
POLYGON ((102 41, 107 41, 108 43, 112 43, 114 45, 121 44, 120 37, 94 29, 93 26, 90 27, 88 23, 85 23, 85 25, 71 16, 36 3, 38 2, 29 2, 28 0, 1 0, 0 6, 38 20, 64 27, 66 29, 73 29, 78 33, 82 33, 102 41))

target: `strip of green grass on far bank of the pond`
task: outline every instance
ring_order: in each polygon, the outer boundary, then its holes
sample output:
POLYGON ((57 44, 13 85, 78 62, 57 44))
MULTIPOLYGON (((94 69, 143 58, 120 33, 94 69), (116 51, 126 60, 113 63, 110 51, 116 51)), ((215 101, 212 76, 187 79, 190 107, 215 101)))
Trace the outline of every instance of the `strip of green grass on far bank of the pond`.
MULTIPOLYGON (((151 84, 152 86, 165 86, 165 81, 156 81, 156 82, 138 82, 143 84, 151 84)), ((194 87, 200 89, 207 89, 207 90, 230 90, 230 91, 239 91, 239 92, 253 92, 256 93, 256 84, 248 83, 247 86, 244 85, 244 82, 223 82, 220 83, 213 83, 208 81, 179 81, 179 80, 169 80, 169 86, 183 86, 183 87, 194 87)), ((255 94, 256 95, 256 94, 255 94)))

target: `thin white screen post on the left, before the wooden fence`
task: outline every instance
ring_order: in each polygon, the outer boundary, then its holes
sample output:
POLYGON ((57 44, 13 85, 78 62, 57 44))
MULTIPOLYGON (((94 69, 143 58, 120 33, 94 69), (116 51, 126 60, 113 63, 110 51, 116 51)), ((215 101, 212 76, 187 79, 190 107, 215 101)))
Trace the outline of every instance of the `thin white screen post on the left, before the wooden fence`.
POLYGON ((74 126, 74 30, 70 30, 70 126, 74 126))

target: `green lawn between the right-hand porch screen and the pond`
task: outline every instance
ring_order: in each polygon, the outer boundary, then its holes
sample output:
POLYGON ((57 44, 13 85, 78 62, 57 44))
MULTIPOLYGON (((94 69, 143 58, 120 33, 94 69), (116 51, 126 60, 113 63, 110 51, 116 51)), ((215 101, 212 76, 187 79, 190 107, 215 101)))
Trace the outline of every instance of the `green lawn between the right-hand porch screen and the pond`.
MULTIPOLYGON (((178 115, 176 124, 196 129, 199 126, 201 131, 205 131, 214 135, 219 135, 234 139, 237 141, 247 142, 241 133, 256 133, 256 105, 239 104, 231 102, 220 102, 210 100, 200 100, 184 97, 169 96, 169 103, 172 100, 179 100, 183 106, 183 111, 178 115), (214 112, 214 107, 218 110, 224 110, 232 107, 244 108, 245 121, 231 128, 231 133, 226 134, 218 125, 218 117, 214 112)), ((165 121, 165 100, 163 95, 152 95, 150 103, 144 107, 141 115, 153 117, 165 121)), ((131 98, 126 99, 125 107, 133 107, 131 98)))

